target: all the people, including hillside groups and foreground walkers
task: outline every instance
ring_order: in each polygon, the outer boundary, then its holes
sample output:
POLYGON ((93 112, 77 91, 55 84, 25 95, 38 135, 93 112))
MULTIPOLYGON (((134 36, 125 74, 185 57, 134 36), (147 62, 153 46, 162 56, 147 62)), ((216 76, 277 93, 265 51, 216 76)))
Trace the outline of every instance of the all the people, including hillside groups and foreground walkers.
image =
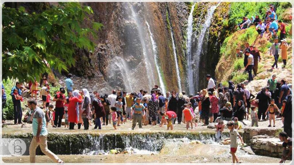
MULTIPOLYGON (((238 24, 240 29, 255 25, 256 30, 263 37, 263 33, 271 33, 274 43, 270 47, 270 55, 274 56, 275 62, 272 65, 278 68, 279 52, 281 50, 283 67, 287 60, 287 41, 285 39, 285 24, 277 20, 275 7, 270 5, 266 12, 264 21, 259 16, 243 18, 242 23, 238 24), (277 32, 280 30, 280 42, 278 43, 277 32)), ((248 72, 248 82, 252 81, 258 72, 258 62, 261 60, 260 52, 255 45, 249 46, 245 43, 245 49, 236 50, 237 57, 244 55, 244 67, 248 72), (252 74, 253 70, 253 74, 252 74)), ((126 122, 132 122, 131 129, 134 130, 137 123, 140 129, 143 125, 163 125, 167 130, 173 130, 177 124, 186 124, 186 129, 193 129, 199 123, 215 125, 217 137, 221 139, 224 130, 224 121, 230 130, 230 153, 233 163, 240 163, 235 155, 237 150, 237 137, 243 144, 242 137, 238 130, 242 128, 240 121, 251 118, 251 126, 258 127, 260 120, 269 120, 268 127, 275 127, 275 119, 281 118, 284 132, 279 134, 283 142, 284 152, 281 162, 288 159, 292 150, 292 85, 286 84, 284 79, 277 80, 276 75, 268 79, 265 87, 254 96, 245 87, 244 83, 236 85, 228 81, 228 86, 219 83, 216 86, 212 76, 207 74, 208 85, 195 96, 186 95, 185 91, 171 91, 162 93, 158 85, 151 89, 150 93, 146 90, 123 91, 112 90, 111 94, 101 95, 98 91, 89 92, 87 89, 77 90, 71 80, 72 74, 68 74, 65 79, 65 86, 61 87, 54 97, 50 95, 50 86, 47 81, 48 74, 39 83, 36 79, 29 82, 28 88, 23 83, 16 82, 11 89, 11 97, 14 111, 14 124, 22 123, 23 101, 22 91, 29 91, 31 99, 28 100, 30 110, 25 116, 25 121, 33 124, 34 138, 30 146, 30 162, 35 162, 35 150, 39 144, 42 151, 56 162, 63 162, 55 154, 47 149, 47 141, 40 135, 47 135, 46 127, 61 127, 64 119, 65 127, 74 130, 83 126, 88 130, 91 125, 93 129, 102 129, 101 125, 112 124, 115 130, 126 122), (67 93, 67 96, 66 96, 67 93), (42 101, 38 107, 38 95, 42 101), (53 104, 55 102, 55 105, 53 104), (43 110, 42 110, 43 109, 43 110), (42 120, 40 120, 42 119, 42 120), (43 121, 44 120, 44 121, 43 121), (92 124, 93 123, 93 124, 92 124), (39 130, 39 125, 42 129, 39 130), (290 151, 289 151, 290 149, 290 151)), ((6 105, 6 93, 2 84, 2 108, 6 105)), ((2 113, 2 123, 5 123, 2 113)), ((228 139, 225 139, 225 141, 228 139)))

